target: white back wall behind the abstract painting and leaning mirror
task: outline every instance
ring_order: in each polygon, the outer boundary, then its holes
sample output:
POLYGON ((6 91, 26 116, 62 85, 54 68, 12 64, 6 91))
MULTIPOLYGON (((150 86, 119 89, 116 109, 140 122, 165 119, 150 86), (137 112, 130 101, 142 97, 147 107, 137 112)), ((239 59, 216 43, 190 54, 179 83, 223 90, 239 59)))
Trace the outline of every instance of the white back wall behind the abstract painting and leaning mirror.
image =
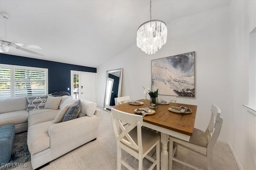
MULTIPOLYGON (((124 68, 121 96, 144 98, 144 87, 151 84, 151 60, 195 51, 195 98, 178 98, 177 102, 198 105, 195 127, 206 129, 210 107, 222 109, 228 119, 228 15, 229 7, 180 18, 167 24, 167 43, 154 55, 147 55, 136 44, 113 60, 97 68, 98 105, 103 105, 106 70, 124 68)), ((139 26, 139 25, 138 25, 139 26)), ((134 43, 136 43, 136 31, 134 43)), ((222 139, 228 139, 224 123, 222 139)))

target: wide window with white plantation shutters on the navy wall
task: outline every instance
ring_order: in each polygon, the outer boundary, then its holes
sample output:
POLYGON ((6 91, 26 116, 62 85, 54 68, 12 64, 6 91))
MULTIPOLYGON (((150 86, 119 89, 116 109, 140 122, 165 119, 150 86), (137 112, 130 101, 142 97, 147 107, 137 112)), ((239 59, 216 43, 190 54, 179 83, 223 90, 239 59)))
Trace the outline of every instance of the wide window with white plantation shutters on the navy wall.
POLYGON ((48 69, 0 65, 0 98, 48 94, 48 69))

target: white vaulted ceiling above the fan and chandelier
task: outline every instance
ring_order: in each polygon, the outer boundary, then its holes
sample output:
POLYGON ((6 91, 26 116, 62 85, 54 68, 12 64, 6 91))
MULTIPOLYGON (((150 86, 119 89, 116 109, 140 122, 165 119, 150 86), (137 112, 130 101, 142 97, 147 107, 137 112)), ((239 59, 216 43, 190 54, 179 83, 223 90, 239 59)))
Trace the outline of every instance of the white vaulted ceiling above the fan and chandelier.
MULTIPOLYGON (((153 0, 152 20, 168 23, 229 3, 153 0)), ((18 43, 39 45, 42 49, 30 50, 44 57, 15 48, 10 48, 8 54, 90 67, 97 67, 136 44, 138 27, 150 19, 149 0, 0 0, 0 12, 12 17, 7 21, 7 37, 18 43)))

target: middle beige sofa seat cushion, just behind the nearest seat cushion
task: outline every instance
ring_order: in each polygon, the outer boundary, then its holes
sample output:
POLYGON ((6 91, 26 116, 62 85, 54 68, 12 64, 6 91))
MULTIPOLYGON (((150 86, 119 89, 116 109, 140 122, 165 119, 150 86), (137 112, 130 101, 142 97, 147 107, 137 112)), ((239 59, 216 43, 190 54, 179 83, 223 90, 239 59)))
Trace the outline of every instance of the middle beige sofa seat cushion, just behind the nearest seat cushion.
POLYGON ((38 123, 54 120, 54 118, 59 113, 59 111, 60 110, 52 110, 52 111, 46 111, 46 112, 30 115, 28 117, 28 127, 38 123))

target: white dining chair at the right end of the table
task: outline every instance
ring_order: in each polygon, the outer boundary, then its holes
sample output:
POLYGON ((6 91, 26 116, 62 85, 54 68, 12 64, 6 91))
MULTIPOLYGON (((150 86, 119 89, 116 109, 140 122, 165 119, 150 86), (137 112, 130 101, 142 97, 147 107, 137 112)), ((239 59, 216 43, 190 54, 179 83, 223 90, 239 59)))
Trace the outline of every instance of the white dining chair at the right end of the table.
POLYGON ((192 137, 189 141, 183 141, 181 139, 176 139, 170 136, 170 145, 169 145, 169 169, 172 169, 172 160, 189 166, 190 168, 200 169, 192 164, 182 162, 177 156, 178 145, 190 149, 198 154, 207 157, 207 168, 208 170, 213 169, 212 162, 212 150, 214 144, 216 143, 220 130, 222 127, 222 117, 220 117, 221 110, 215 105, 212 105, 211 108, 211 117, 210 122, 206 131, 194 128, 192 137))

